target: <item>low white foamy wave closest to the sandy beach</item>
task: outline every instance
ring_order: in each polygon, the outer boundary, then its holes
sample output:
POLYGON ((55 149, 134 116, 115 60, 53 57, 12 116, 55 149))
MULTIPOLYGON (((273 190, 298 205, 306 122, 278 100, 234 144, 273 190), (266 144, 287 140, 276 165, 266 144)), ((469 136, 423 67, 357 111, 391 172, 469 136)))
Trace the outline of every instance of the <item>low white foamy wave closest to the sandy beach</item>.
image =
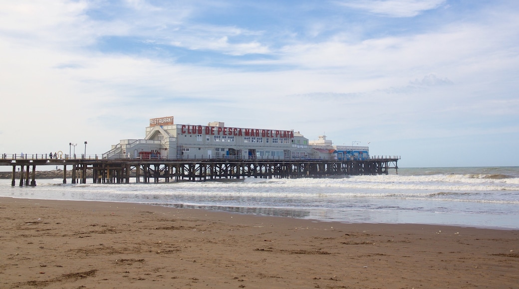
MULTIPOLYGON (((206 183, 204 183, 206 184, 206 183)), ((62 191, 59 186, 51 185, 49 189, 62 191)), ((232 201, 244 200, 255 203, 258 200, 278 199, 280 203, 290 204, 307 200, 310 203, 329 200, 339 203, 353 199, 409 199, 409 200, 434 200, 434 201, 470 201, 478 203, 515 204, 519 205, 519 194, 490 194, 481 191, 447 191, 439 192, 420 190, 340 190, 315 188, 304 188, 290 186, 290 189, 279 186, 196 186, 196 183, 187 183, 180 186, 174 184, 147 184, 147 185, 103 185, 103 184, 81 184, 67 186, 67 193, 82 194, 85 197, 94 195, 113 195, 117 198, 144 198, 144 199, 198 199, 206 201, 232 201)), ((326 203, 329 203, 326 201, 326 203)))

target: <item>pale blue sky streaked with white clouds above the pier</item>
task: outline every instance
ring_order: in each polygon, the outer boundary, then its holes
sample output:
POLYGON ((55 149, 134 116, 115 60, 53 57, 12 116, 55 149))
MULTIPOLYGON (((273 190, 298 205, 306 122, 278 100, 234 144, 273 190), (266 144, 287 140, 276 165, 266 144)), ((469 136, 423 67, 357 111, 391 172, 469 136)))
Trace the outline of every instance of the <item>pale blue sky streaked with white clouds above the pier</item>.
POLYGON ((0 153, 149 119, 294 129, 399 167, 519 166, 516 0, 0 0, 0 153))

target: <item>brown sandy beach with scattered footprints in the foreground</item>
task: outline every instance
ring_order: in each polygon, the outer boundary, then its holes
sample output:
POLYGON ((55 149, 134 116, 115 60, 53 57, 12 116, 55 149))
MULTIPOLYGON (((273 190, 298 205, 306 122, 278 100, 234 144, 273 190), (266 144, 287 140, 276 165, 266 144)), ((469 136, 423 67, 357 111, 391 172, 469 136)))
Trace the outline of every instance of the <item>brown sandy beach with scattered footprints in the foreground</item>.
POLYGON ((519 231, 0 198, 0 288, 518 288, 519 231))

